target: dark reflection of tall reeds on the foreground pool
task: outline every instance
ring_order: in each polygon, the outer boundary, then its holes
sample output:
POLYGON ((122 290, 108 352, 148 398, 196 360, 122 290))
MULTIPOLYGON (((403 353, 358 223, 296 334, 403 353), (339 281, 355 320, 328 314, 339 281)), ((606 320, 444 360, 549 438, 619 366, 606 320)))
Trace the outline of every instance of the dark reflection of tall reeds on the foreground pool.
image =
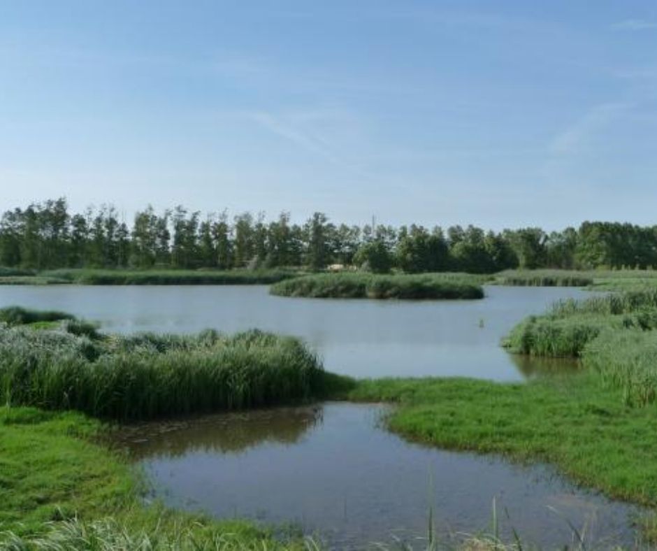
POLYGON ((323 413, 315 405, 135 424, 117 431, 114 442, 128 448, 133 459, 197 451, 239 453, 264 443, 296 443, 321 424, 323 413))

